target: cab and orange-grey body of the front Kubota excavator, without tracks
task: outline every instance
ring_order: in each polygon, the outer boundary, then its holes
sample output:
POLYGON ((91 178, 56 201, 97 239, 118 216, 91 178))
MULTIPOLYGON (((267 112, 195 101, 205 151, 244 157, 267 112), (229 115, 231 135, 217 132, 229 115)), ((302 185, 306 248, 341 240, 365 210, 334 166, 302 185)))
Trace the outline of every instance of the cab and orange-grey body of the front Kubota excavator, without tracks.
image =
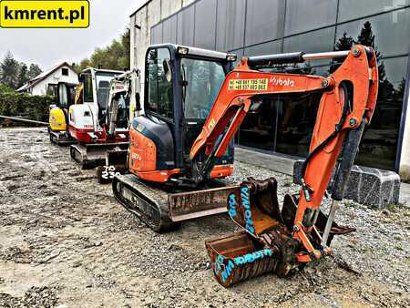
MULTIPOLYGON (((130 129, 129 170, 141 180, 178 182, 236 56, 171 44, 146 54, 144 115, 130 129), (154 149, 155 147, 155 149, 154 149)), ((231 175, 233 142, 215 161, 212 178, 231 175)))

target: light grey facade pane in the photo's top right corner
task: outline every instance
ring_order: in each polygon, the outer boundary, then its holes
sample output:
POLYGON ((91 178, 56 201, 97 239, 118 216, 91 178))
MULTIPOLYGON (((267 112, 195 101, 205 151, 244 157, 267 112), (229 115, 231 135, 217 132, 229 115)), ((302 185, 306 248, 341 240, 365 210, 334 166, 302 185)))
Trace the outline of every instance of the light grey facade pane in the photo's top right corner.
POLYGON ((339 22, 410 5, 410 0, 339 0, 339 22))

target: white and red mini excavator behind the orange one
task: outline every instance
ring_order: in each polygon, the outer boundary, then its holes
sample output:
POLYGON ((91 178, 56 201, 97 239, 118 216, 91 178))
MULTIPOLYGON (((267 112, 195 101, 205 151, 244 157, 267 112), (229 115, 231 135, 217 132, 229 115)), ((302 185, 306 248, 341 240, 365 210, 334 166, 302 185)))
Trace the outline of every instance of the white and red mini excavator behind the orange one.
POLYGON ((128 125, 133 118, 135 96, 131 80, 138 71, 121 72, 87 68, 80 76, 82 104, 68 111, 68 129, 77 144, 70 148, 71 158, 82 169, 106 163, 109 151, 128 149, 128 125))

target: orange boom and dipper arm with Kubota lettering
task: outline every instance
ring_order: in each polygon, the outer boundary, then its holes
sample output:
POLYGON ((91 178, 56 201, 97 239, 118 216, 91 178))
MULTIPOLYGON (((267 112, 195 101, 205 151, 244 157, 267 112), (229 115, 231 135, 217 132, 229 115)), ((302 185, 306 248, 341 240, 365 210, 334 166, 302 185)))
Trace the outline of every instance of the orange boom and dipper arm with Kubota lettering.
MULTIPOLYGON (((336 187, 333 190, 333 200, 343 199, 344 186, 364 126, 370 123, 374 113, 377 90, 378 73, 374 50, 364 46, 357 45, 345 52, 243 58, 226 77, 200 136, 193 144, 190 159, 195 164, 199 157, 207 158, 205 163, 200 162, 198 168, 202 172, 200 175, 207 177, 212 159, 224 153, 249 111, 252 99, 270 94, 320 91, 322 98, 313 128, 309 155, 302 167, 302 191, 292 225, 293 240, 304 247, 297 252, 297 261, 319 259, 329 254, 330 249, 325 244, 318 247, 310 239, 311 232, 320 237, 314 224, 320 216, 325 190, 344 149, 342 162, 333 182, 333 187, 336 187), (250 68, 334 57, 344 57, 344 60, 329 77, 265 73, 250 68)), ((329 224, 327 229, 330 229, 331 225, 329 224)), ((256 233, 253 235, 260 235, 256 233)))

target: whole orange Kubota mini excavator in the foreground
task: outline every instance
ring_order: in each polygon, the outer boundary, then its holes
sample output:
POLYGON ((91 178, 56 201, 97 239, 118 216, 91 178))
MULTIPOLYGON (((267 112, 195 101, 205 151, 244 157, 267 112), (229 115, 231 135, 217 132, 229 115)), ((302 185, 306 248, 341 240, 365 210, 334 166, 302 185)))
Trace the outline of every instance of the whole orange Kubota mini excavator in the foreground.
MULTIPOLYGON (((295 222, 289 223, 290 230, 281 233, 290 239, 286 244, 292 241, 295 245, 292 256, 298 262, 320 258, 329 252, 316 241, 321 231, 315 222, 318 217, 323 218, 320 215, 323 194, 343 149, 333 199, 343 198, 344 183, 360 137, 374 112, 378 85, 374 51, 354 46, 342 52, 251 56, 242 58, 231 69, 235 60, 235 55, 195 47, 169 44, 149 47, 144 114, 132 122, 129 174, 115 177, 114 195, 155 231, 167 231, 180 221, 229 210, 236 213, 231 215, 234 221, 246 229, 243 235, 246 239, 263 238, 265 232, 275 230, 274 226, 283 227, 283 220, 273 215, 282 215, 272 205, 276 186, 273 180, 269 185, 253 182, 254 189, 249 190, 252 196, 257 199, 261 196, 262 205, 271 204, 260 210, 261 207, 255 208, 251 202, 253 197, 248 203, 240 201, 244 184, 230 185, 220 180, 230 176, 233 170, 233 136, 251 111, 252 103, 260 102, 263 96, 320 92, 322 100, 310 154, 302 168, 302 195, 294 204, 295 222), (329 77, 271 73, 263 69, 320 58, 342 58, 343 63, 329 77), (236 196, 236 203, 231 202, 232 196, 236 196), (261 217, 254 210, 259 210, 261 217)), ((228 243, 231 245, 232 241, 228 243)), ((249 247, 245 246, 251 252, 250 243, 253 241, 249 240, 249 247)), ((220 241, 210 241, 207 245, 218 277, 229 276, 235 253, 247 252, 245 246, 230 251, 229 245, 224 246, 220 241)), ((268 244, 258 245, 255 247, 266 247, 276 253, 268 244)), ((231 276, 220 282, 227 285, 230 279, 231 276)))

